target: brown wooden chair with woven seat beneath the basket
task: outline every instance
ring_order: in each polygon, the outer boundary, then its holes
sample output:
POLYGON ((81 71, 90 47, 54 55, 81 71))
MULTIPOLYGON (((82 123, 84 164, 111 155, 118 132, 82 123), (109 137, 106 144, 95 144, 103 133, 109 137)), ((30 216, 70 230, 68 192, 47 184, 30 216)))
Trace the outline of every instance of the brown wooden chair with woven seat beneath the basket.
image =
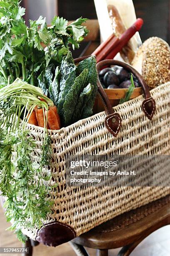
MULTIPOLYGON (((118 256, 128 256, 147 236, 169 224, 170 195, 117 216, 73 239, 70 245, 77 256, 88 256, 84 246, 96 249, 97 256, 108 256, 109 249, 122 247, 118 256)), ((28 239, 25 246, 30 253, 25 256, 32 256, 37 244, 28 239)))

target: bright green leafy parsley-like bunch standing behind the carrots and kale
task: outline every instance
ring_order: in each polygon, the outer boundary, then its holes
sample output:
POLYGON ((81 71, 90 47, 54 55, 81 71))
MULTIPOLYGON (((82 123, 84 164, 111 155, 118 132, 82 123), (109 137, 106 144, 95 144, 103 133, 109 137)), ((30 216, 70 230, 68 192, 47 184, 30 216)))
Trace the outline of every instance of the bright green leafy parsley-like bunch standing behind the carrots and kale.
POLYGON ((0 1, 0 87, 20 77, 23 81, 38 86, 37 77, 50 64, 60 66, 62 57, 67 55, 69 45, 79 47, 79 41, 88 30, 78 18, 68 21, 54 17, 48 27, 45 18, 30 20, 25 25, 25 9, 19 0, 0 1))

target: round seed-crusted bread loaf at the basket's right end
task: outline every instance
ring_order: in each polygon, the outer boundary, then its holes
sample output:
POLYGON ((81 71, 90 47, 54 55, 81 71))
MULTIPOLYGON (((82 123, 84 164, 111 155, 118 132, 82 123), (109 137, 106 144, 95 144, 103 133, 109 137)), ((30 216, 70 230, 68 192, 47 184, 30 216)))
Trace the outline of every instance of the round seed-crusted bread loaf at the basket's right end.
POLYGON ((169 82, 170 46, 161 38, 149 38, 135 54, 132 66, 143 75, 151 89, 169 82))

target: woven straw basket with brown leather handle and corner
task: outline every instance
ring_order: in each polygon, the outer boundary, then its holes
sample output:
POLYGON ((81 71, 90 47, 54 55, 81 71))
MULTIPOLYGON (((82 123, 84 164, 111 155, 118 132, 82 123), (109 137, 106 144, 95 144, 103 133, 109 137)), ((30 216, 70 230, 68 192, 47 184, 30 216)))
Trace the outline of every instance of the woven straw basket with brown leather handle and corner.
MULTIPOLYGON (((119 61, 107 63, 125 66, 119 61)), ((107 63, 102 61, 97 69, 107 63)), ((170 193, 169 187, 68 187, 65 184, 68 154, 170 154, 170 82, 149 92, 140 74, 130 66, 126 68, 142 84, 145 97, 140 95, 113 110, 98 84, 107 116, 101 112, 59 131, 49 130, 52 163, 43 172, 51 172, 50 182, 58 186, 49 192, 48 199, 54 204, 42 228, 23 230, 33 240, 57 246, 123 212, 170 193), (110 123, 113 118, 116 122, 110 123)), ((43 128, 34 125, 28 125, 28 128, 36 141, 32 160, 38 162, 42 153, 43 128)))

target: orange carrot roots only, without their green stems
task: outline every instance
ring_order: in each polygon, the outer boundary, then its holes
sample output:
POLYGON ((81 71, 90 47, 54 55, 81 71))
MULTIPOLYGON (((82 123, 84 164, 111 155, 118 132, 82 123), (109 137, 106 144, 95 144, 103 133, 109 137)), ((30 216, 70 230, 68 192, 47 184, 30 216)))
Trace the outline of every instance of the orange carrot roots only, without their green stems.
MULTIPOLYGON (((38 97, 39 100, 45 101, 41 97, 38 97)), ((60 115, 57 113, 57 107, 49 107, 48 110, 45 110, 45 117, 47 119, 47 129, 51 130, 60 130, 61 122, 60 115)), ((44 110, 43 108, 38 108, 36 106, 30 116, 28 117, 28 123, 32 125, 37 125, 40 127, 45 127, 45 119, 44 119, 44 110)))

